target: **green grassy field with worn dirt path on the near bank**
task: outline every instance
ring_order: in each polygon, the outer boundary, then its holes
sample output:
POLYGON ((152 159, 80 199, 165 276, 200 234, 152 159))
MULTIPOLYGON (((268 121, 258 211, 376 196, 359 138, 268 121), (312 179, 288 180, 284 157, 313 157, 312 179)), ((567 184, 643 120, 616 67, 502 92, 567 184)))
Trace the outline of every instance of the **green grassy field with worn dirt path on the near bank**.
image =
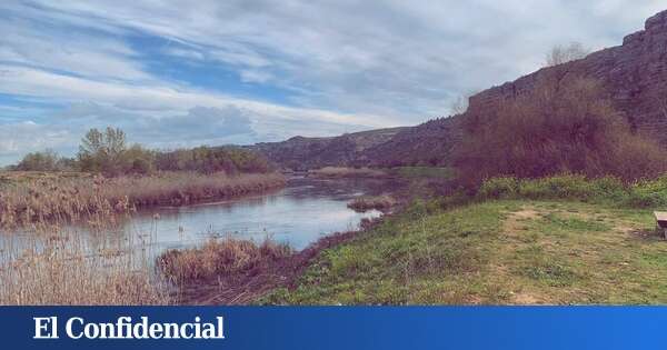
POLYGON ((649 210, 577 201, 415 204, 326 250, 265 303, 667 302, 667 242, 649 210))

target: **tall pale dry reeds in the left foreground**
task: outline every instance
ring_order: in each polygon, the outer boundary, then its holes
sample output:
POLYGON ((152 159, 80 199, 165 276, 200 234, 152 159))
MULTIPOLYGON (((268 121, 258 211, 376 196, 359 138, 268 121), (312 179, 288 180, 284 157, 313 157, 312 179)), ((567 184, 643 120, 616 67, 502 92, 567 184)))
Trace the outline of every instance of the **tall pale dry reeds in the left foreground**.
POLYGON ((110 229, 83 234, 42 221, 0 232, 0 304, 171 303, 153 273, 150 239, 109 239, 102 233, 110 229))

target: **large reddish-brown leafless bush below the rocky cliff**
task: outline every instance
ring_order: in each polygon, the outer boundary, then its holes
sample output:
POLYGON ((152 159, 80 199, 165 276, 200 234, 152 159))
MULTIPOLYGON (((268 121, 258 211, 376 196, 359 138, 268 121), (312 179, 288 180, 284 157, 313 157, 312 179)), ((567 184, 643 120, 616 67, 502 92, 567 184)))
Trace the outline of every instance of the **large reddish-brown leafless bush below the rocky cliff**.
POLYGON ((664 149, 631 132, 596 81, 568 81, 545 76, 494 113, 467 116, 456 154, 460 178, 477 184, 573 172, 631 181, 667 171, 664 149))

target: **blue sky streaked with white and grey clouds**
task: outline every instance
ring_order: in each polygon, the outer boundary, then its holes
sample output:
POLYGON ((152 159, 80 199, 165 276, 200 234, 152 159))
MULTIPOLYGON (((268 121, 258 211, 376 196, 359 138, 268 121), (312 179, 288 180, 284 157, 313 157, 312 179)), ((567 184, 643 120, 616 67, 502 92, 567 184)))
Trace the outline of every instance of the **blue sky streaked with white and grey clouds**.
POLYGON ((90 128, 175 149, 412 126, 620 44, 664 0, 0 1, 0 166, 90 128))

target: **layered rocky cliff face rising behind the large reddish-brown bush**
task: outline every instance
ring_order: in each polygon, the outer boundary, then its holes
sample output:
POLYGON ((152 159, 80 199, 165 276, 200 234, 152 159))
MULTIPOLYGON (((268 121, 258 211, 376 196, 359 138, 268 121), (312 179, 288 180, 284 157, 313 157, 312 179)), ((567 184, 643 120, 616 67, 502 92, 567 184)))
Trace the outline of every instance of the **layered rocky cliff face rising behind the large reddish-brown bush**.
POLYGON ((667 144, 667 11, 649 18, 645 29, 627 36, 623 46, 541 69, 471 97, 469 111, 484 112, 498 100, 516 97, 544 74, 556 74, 561 81, 574 77, 600 81, 635 130, 667 144))

